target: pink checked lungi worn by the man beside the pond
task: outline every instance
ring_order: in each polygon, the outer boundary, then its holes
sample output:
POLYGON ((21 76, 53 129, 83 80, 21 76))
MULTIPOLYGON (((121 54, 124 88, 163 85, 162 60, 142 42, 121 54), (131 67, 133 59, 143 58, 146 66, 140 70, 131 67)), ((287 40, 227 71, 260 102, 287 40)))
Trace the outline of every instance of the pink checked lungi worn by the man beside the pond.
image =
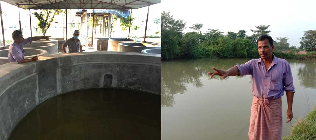
POLYGON ((258 99, 253 96, 249 140, 282 139, 282 100, 258 99))

